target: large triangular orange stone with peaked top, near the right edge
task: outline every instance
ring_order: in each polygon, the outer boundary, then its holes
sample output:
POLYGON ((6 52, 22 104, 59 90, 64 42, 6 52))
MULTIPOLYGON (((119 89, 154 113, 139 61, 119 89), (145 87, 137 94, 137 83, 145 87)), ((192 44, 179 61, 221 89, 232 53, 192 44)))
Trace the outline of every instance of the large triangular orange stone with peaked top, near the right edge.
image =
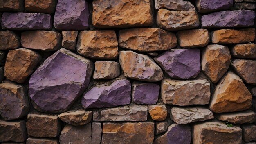
POLYGON ((251 107, 252 95, 243 81, 228 72, 216 86, 210 109, 216 113, 243 111, 251 107))

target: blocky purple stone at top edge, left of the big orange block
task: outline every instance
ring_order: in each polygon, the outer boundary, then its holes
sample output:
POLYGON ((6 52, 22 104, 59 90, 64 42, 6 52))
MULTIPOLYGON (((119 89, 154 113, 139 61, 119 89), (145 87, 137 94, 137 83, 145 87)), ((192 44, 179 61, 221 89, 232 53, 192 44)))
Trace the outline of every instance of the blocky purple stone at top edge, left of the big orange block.
POLYGON ((54 15, 57 30, 86 30, 89 28, 89 9, 85 0, 58 0, 54 15))

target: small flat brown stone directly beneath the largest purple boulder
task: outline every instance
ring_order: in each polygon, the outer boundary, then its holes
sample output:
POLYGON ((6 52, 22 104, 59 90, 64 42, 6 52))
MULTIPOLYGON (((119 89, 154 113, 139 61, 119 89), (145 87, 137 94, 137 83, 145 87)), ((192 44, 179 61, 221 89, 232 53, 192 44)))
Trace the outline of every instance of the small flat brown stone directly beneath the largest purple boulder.
POLYGON ((88 124, 92 120, 92 111, 73 110, 61 113, 58 117, 68 124, 78 126, 88 124))

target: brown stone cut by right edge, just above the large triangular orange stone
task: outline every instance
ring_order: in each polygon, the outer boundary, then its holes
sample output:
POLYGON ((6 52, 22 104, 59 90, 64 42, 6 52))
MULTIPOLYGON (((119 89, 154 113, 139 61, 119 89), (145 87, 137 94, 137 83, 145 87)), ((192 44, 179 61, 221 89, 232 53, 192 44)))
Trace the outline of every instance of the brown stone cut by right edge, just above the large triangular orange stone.
POLYGON ((232 61, 231 65, 246 83, 256 84, 256 61, 236 59, 232 61))

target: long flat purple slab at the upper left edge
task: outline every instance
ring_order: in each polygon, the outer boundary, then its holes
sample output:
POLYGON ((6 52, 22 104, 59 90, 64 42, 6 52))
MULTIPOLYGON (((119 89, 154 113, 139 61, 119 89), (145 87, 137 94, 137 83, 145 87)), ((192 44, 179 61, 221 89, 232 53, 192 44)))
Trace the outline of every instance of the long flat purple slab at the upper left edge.
POLYGON ((3 13, 2 29, 51 30, 52 18, 44 13, 3 13))

